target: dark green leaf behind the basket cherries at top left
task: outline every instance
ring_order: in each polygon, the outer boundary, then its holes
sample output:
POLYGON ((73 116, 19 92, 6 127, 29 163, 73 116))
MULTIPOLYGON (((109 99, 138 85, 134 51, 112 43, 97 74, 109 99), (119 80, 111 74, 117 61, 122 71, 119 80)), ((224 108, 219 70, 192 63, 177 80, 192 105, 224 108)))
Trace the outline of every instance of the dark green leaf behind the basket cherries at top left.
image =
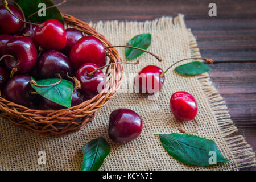
MULTIPOLYGON (((14 2, 18 3, 19 6, 22 8, 24 15, 26 18, 30 16, 32 13, 42 9, 43 7, 39 6, 39 3, 44 3, 46 7, 55 5, 51 0, 14 0, 14 2)), ((31 22, 45 22, 48 19, 57 19, 62 24, 64 24, 64 19, 57 7, 52 7, 46 10, 46 16, 38 16, 38 13, 31 16, 29 20, 31 22)))

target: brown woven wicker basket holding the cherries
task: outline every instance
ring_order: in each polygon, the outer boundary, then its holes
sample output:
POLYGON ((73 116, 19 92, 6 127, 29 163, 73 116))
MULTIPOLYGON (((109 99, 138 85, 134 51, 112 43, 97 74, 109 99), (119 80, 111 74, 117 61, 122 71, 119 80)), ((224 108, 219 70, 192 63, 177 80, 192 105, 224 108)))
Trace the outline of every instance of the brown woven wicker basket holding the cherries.
MULTIPOLYGON (((96 36, 105 47, 112 46, 88 23, 82 22, 73 16, 62 14, 66 26, 76 28, 86 35, 96 36)), ((118 52, 114 48, 106 49, 106 56, 110 62, 121 61, 118 52)), ((114 64, 106 69, 108 82, 100 94, 92 99, 82 102, 80 105, 62 110, 31 110, 22 105, 15 104, 0 97, 0 117, 23 129, 34 131, 42 135, 65 135, 85 127, 92 121, 101 107, 115 96, 122 80, 122 64, 114 64)))

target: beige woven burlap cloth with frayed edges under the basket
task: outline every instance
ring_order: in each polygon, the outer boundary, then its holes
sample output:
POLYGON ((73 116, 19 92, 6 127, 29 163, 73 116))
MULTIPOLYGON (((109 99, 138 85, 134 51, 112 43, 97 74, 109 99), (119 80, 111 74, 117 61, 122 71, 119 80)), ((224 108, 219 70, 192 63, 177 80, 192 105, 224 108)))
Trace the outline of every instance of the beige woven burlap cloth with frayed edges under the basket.
MULTIPOLYGON (((183 15, 176 18, 163 17, 146 22, 98 22, 90 23, 113 45, 125 45, 133 36, 150 33, 152 43, 149 51, 160 55, 159 63, 144 53, 139 65, 123 65, 125 75, 138 73, 146 65, 168 68, 177 60, 200 56, 195 37, 185 27, 183 15)), ((125 59, 124 49, 118 48, 125 59)), ((122 89, 132 77, 124 78, 122 89)), ((119 90, 120 91, 120 90, 119 90)), ((80 170, 81 148, 86 142, 104 137, 110 144, 111 152, 101 170, 236 170, 254 166, 255 154, 237 127, 230 119, 225 102, 217 93, 208 73, 199 76, 181 76, 174 71, 166 74, 164 86, 158 100, 148 100, 141 94, 122 93, 122 90, 97 114, 96 119, 84 129, 64 137, 45 137, 13 126, 8 121, 0 123, 0 169, 1 170, 80 170), (178 127, 187 131, 195 130, 192 122, 177 122, 173 117, 169 101, 174 92, 184 90, 191 93, 199 106, 196 135, 214 140, 229 162, 209 167, 189 166, 168 155, 154 134, 179 133, 178 127), (138 139, 126 144, 116 144, 108 137, 109 114, 120 107, 136 111, 143 120, 143 131, 138 139), (38 164, 38 152, 46 152, 46 165, 38 164)))

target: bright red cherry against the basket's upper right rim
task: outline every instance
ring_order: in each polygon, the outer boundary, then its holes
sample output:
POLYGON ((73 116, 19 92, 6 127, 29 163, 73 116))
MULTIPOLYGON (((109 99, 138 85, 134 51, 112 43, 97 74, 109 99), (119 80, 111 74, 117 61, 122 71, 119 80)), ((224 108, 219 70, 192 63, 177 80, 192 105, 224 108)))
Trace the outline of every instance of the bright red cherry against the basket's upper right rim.
POLYGON ((69 59, 76 69, 85 63, 102 67, 106 64, 105 47, 96 37, 84 36, 71 48, 69 59))

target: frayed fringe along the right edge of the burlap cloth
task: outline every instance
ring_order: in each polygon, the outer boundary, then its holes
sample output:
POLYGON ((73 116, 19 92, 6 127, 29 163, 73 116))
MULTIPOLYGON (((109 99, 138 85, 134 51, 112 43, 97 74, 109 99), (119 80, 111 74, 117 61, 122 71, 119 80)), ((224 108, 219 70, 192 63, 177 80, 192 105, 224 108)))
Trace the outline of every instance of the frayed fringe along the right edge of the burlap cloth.
MULTIPOLYGON (((180 18, 183 19, 184 15, 179 15, 179 19, 180 18)), ((187 29, 187 32, 188 42, 191 48, 191 57, 201 57, 195 36, 193 36, 191 29, 187 29)), ((209 74, 204 73, 197 76, 197 78, 204 91, 205 97, 207 97, 209 101, 214 117, 216 117, 221 134, 229 147, 227 150, 231 151, 237 168, 241 169, 255 166, 255 153, 253 152, 253 148, 246 142, 242 135, 238 134, 238 129, 230 118, 225 101, 221 95, 218 94, 216 88, 214 88, 212 81, 210 81, 209 74)))

